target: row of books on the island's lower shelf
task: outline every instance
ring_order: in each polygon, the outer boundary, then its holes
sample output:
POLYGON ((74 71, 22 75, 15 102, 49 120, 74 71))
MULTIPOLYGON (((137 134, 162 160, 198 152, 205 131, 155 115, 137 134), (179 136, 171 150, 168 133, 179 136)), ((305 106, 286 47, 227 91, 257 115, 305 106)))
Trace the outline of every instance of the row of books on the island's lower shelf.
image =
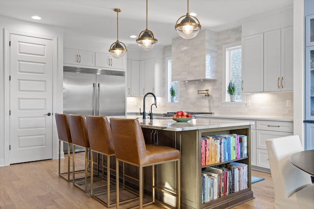
POLYGON ((247 164, 232 162, 202 170, 202 204, 248 187, 247 164))

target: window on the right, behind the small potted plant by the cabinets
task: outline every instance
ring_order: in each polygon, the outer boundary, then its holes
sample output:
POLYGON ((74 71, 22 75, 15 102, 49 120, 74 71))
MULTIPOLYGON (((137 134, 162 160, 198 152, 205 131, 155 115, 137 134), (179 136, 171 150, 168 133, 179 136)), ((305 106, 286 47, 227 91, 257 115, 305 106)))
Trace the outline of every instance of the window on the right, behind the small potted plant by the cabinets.
POLYGON ((230 81, 235 84, 236 101, 242 101, 241 94, 241 42, 227 44, 223 46, 224 69, 223 72, 223 100, 230 101, 227 93, 227 86, 230 81))

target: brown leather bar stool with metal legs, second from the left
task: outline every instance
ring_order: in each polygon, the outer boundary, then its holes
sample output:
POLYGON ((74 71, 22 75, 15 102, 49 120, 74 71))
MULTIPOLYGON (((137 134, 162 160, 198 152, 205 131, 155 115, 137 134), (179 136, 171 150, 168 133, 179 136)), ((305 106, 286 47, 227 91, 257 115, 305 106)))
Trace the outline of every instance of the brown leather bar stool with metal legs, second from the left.
POLYGON ((89 139, 87 134, 87 125, 86 119, 83 115, 68 115, 69 127, 71 132, 72 144, 73 144, 73 185, 87 192, 87 173, 88 173, 88 149, 89 149, 89 139), (75 179, 75 146, 85 148, 85 177, 84 177, 84 186, 81 188, 75 179))

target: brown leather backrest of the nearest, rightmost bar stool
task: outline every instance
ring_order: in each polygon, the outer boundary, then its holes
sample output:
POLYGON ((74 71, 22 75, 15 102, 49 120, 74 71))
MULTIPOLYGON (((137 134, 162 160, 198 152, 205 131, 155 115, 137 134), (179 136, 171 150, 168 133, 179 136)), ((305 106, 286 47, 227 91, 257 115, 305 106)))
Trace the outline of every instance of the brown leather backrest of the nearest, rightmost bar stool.
POLYGON ((138 119, 111 117, 110 125, 116 158, 139 166, 147 154, 138 119))

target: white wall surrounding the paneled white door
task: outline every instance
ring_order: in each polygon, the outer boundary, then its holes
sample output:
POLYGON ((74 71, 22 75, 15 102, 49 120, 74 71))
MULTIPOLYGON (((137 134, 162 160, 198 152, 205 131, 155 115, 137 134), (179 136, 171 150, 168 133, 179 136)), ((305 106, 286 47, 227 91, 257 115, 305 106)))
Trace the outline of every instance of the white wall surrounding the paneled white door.
MULTIPOLYGON (((34 35, 43 35, 43 36, 53 36, 57 38, 57 71, 53 73, 53 112, 62 112, 62 80, 63 80, 63 30, 59 27, 54 26, 47 26, 44 24, 39 23, 31 23, 31 22, 24 22, 16 19, 0 17, 0 166, 8 165, 9 163, 9 144, 5 144, 4 139, 4 131, 9 131, 7 121, 5 118, 8 118, 8 112, 4 112, 4 108, 7 106, 8 101, 5 98, 5 92, 9 91, 8 87, 5 86, 7 83, 4 77, 4 45, 8 45, 8 43, 4 43, 4 29, 21 31, 29 34, 34 35)), ((54 121, 54 120, 53 120, 54 121)), ((56 127, 54 123, 53 127, 53 147, 52 147, 52 158, 57 158, 57 134, 56 134, 56 127)))

